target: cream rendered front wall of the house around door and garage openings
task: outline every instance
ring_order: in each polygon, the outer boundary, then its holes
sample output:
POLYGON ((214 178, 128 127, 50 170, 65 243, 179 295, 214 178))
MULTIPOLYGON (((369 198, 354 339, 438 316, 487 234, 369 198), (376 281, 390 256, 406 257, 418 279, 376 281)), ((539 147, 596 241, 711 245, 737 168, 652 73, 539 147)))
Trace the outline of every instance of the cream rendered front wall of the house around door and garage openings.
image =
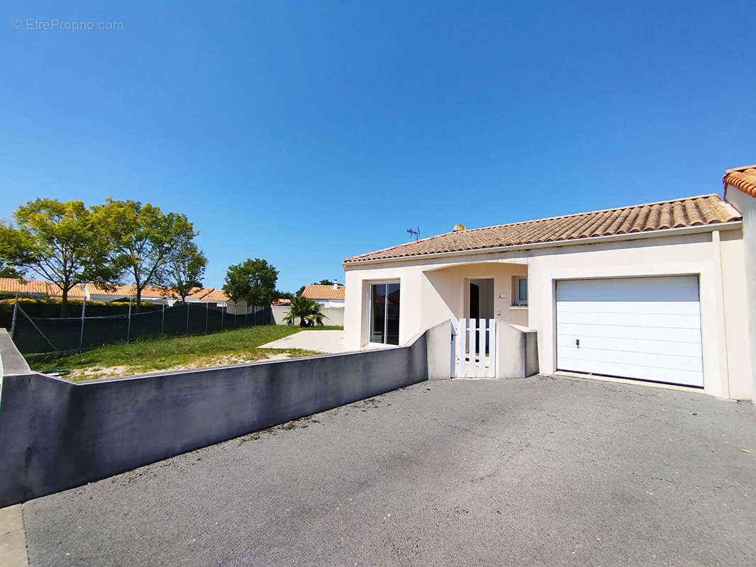
POLYGON ((742 231, 731 225, 729 230, 705 228, 664 237, 640 234, 600 243, 346 264, 345 345, 359 349, 365 344, 365 300, 371 281, 401 282, 402 344, 405 337, 439 321, 466 317, 467 278, 494 277, 496 318, 538 331, 541 372, 553 373, 556 280, 689 274, 699 277, 705 392, 721 398, 753 398, 756 379, 748 350, 756 349, 756 330, 749 330, 748 320, 753 325, 754 314, 749 315, 752 308, 745 306, 756 302, 756 290, 746 290, 745 274, 756 272, 743 268, 745 256, 742 231), (513 305, 517 275, 528 276, 527 308, 513 305), (499 297, 504 292, 507 299, 499 297))

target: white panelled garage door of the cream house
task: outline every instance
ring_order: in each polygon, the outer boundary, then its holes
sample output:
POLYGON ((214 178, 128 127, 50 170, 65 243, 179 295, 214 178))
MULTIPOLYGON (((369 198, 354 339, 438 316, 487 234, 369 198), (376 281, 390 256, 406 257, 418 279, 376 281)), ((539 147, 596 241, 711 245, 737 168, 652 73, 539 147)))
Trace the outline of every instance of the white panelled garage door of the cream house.
POLYGON ((698 277, 557 282, 556 364, 702 388, 698 277))

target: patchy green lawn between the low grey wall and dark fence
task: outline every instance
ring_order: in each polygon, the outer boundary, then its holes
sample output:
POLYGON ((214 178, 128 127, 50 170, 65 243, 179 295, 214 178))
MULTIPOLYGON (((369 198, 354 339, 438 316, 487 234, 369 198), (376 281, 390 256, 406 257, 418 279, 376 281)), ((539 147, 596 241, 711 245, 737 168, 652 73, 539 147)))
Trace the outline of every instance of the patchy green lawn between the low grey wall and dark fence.
MULTIPOLYGON (((308 327, 307 330, 340 330, 342 327, 308 327)), ((229 330, 212 335, 147 339, 103 346, 78 355, 29 363, 32 370, 71 370, 69 380, 92 380, 128 376, 157 370, 198 368, 265 360, 274 355, 287 357, 318 355, 302 349, 260 349, 265 345, 302 330, 301 327, 261 325, 229 330)))

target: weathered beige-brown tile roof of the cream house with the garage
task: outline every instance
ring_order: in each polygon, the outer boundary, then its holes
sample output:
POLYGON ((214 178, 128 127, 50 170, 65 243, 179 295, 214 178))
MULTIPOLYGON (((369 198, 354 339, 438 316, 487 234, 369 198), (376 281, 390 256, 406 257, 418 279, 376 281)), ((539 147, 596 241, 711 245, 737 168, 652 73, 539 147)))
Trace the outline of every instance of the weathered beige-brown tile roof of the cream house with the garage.
POLYGON ((534 221, 513 222, 510 225, 451 231, 360 256, 352 256, 344 262, 349 264, 368 260, 562 242, 618 234, 650 233, 668 228, 716 225, 740 219, 740 213, 719 196, 701 195, 617 209, 540 218, 534 221))

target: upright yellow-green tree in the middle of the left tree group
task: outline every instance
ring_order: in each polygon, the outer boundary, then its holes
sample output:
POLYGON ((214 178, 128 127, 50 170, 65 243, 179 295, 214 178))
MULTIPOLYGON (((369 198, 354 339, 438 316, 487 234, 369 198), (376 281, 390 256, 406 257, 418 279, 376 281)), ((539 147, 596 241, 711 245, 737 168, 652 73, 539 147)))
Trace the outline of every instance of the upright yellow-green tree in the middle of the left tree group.
POLYGON ((106 199, 95 212, 113 242, 113 264, 134 278, 139 310, 142 290, 170 285, 178 254, 200 233, 186 215, 150 203, 106 199))

